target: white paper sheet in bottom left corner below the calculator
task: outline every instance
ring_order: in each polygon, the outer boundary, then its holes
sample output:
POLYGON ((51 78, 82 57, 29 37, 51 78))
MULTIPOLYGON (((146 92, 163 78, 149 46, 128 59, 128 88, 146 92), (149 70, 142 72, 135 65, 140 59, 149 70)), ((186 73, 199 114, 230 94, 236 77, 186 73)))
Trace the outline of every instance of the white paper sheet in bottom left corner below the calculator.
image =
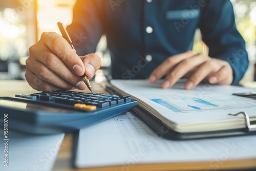
POLYGON ((0 170, 5 171, 35 171, 35 170, 52 170, 56 156, 64 134, 57 135, 28 135, 10 131, 8 133, 8 167, 6 163, 4 149, 6 148, 4 141, 4 130, 0 129, 1 141, 0 154, 1 164, 0 170))

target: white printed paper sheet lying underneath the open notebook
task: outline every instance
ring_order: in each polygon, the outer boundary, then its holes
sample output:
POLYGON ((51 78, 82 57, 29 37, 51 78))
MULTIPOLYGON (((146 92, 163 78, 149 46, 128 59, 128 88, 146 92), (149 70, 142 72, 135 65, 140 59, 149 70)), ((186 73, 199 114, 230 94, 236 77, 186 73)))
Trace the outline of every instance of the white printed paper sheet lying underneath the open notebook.
POLYGON ((256 160, 256 136, 188 141, 161 136, 135 114, 114 117, 80 130, 75 165, 124 168, 140 163, 209 161, 209 166, 216 169, 227 160, 256 160))

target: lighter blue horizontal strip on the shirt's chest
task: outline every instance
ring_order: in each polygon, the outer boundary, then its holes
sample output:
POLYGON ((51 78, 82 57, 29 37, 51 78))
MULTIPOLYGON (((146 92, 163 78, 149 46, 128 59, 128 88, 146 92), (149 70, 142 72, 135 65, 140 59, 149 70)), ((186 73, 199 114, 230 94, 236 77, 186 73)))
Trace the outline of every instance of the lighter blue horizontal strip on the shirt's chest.
POLYGON ((199 17, 199 14, 199 9, 169 10, 166 11, 165 17, 167 20, 196 19, 199 17))

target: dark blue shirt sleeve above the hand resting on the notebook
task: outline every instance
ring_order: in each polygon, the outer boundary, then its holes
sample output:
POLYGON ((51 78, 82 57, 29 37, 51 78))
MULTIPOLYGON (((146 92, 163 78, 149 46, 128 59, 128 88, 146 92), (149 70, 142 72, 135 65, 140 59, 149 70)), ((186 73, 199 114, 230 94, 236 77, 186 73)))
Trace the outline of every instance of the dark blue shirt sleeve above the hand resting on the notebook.
POLYGON ((209 56, 227 61, 233 70, 233 82, 238 83, 248 68, 245 41, 236 28, 229 0, 207 1, 202 9, 199 28, 209 47, 209 56))

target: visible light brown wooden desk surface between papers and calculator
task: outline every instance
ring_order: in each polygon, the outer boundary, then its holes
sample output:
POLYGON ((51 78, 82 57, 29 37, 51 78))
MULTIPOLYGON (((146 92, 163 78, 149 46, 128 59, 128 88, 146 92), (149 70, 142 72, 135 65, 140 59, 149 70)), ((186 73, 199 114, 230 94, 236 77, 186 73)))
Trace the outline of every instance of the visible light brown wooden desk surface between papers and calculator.
MULTIPOLYGON (((91 82, 93 90, 95 92, 99 93, 106 93, 99 84, 96 84, 94 82, 91 82)), ((33 90, 29 84, 26 81, 0 81, 0 96, 14 96, 15 94, 31 94, 37 92, 36 90, 33 90)), ((89 90, 86 90, 85 92, 89 92, 89 90)), ((71 170, 88 170, 88 169, 75 169, 71 166, 71 155, 72 155, 72 142, 73 142, 73 136, 72 134, 67 134, 65 138, 63 139, 63 142, 61 144, 61 149, 57 155, 57 159, 54 165, 53 170, 54 171, 71 171, 71 170)), ((205 170, 205 168, 208 166, 209 162, 196 162, 196 163, 165 163, 165 164, 151 164, 147 165, 136 165, 133 167, 132 170, 148 170, 147 168, 150 168, 149 170, 205 170)), ((247 160, 236 160, 233 161, 226 161, 224 164, 221 165, 220 169, 228 169, 232 166, 236 169, 241 168, 251 168, 256 167, 256 159, 247 159, 247 160), (242 162, 242 164, 241 164, 242 162), (240 164, 238 164, 240 163, 240 164)), ((89 169, 89 170, 98 170, 95 169, 89 169)), ((102 169, 101 169, 102 170, 102 169)), ((104 170, 120 170, 120 167, 108 167, 104 168, 104 170)), ((253 170, 253 169, 252 169, 253 170)), ((252 171, 251 170, 251 171, 252 171)))

